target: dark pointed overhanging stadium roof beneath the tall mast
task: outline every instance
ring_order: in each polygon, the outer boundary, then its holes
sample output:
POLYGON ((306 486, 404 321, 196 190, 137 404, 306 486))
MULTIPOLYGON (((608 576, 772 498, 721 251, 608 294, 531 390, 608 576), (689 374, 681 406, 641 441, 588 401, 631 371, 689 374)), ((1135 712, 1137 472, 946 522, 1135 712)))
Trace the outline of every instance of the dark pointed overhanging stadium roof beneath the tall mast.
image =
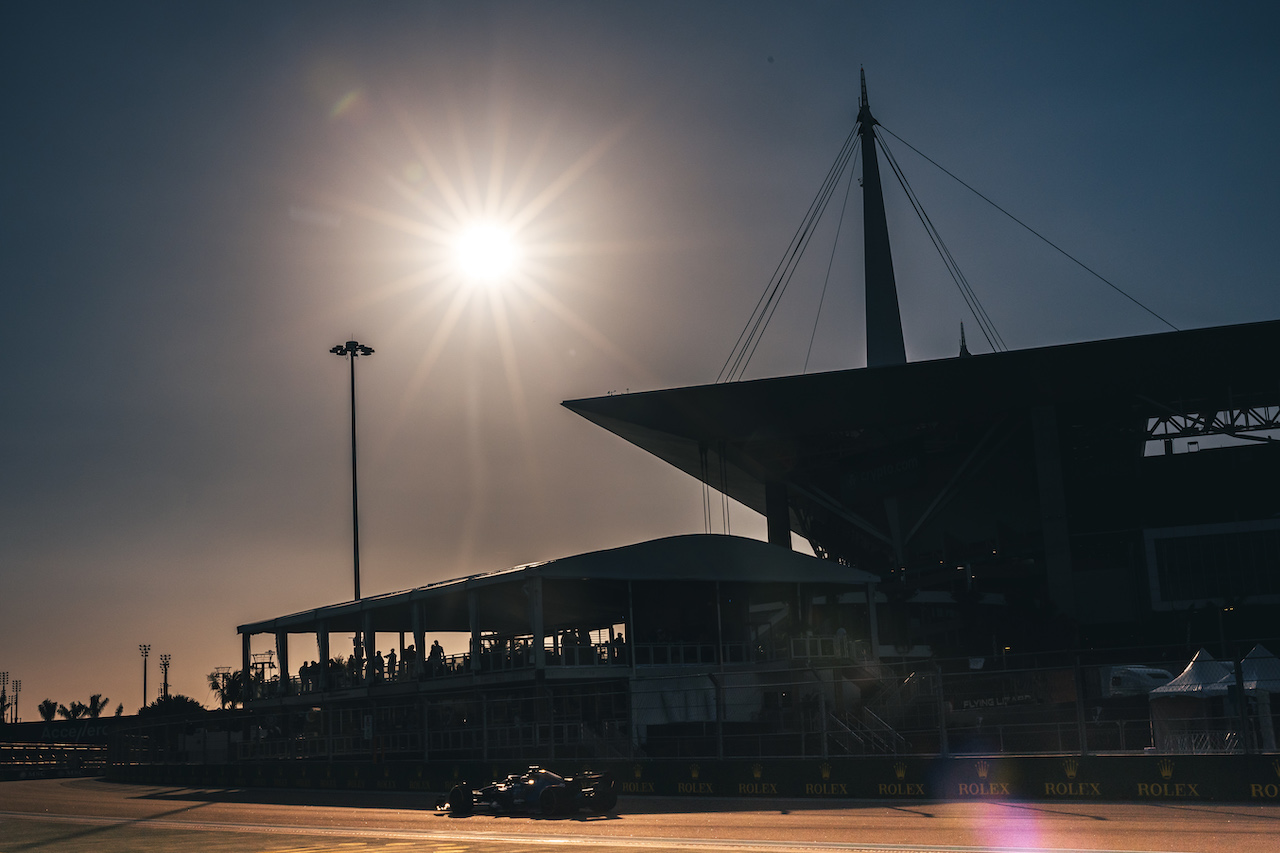
POLYGON ((1178 406, 1275 405, 1277 345, 1268 320, 563 405, 763 512, 764 483, 803 487, 838 455, 940 424, 1056 405, 1140 441, 1146 418, 1178 406))

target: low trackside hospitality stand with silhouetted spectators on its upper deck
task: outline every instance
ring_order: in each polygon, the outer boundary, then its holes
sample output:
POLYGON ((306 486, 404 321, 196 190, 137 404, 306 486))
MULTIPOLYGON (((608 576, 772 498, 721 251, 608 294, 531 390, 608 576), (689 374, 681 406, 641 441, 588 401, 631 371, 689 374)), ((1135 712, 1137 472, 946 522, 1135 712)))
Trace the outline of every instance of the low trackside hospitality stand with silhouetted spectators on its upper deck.
POLYGON ((859 683, 878 678, 877 584, 764 542, 686 535, 242 625, 243 671, 256 656, 279 662, 248 679, 262 724, 242 752, 819 754, 833 738, 892 749, 859 702, 859 683), (434 649, 460 635, 465 651, 434 649))

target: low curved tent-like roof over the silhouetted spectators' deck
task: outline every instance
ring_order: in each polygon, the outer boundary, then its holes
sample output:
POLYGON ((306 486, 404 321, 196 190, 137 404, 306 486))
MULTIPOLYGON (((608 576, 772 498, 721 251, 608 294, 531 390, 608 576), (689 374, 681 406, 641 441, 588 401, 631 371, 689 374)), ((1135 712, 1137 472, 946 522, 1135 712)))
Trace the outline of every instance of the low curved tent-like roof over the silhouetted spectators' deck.
MULTIPOLYGON (((374 630, 408 630, 410 606, 426 602, 439 615, 430 630, 466 630, 467 592, 499 584, 521 584, 530 578, 566 580, 745 581, 860 587, 876 575, 818 560, 767 542, 741 537, 692 534, 652 539, 621 548, 515 566, 467 578, 444 580, 402 592, 370 596, 279 616, 237 628, 241 634, 301 633, 325 622, 333 633, 360 630, 366 613, 374 630), (448 622, 457 622, 449 625, 448 622)), ((673 593, 678 594, 678 593, 673 593)))

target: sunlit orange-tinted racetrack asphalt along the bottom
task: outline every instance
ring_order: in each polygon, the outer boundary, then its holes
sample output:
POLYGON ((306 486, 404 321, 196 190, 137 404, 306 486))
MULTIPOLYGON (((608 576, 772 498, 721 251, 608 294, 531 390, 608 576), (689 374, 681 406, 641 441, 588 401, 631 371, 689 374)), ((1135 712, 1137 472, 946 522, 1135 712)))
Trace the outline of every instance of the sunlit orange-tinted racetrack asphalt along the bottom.
POLYGON ((451 817, 434 797, 0 783, 0 853, 1089 850, 1275 853, 1280 806, 623 797, 611 816, 451 817))

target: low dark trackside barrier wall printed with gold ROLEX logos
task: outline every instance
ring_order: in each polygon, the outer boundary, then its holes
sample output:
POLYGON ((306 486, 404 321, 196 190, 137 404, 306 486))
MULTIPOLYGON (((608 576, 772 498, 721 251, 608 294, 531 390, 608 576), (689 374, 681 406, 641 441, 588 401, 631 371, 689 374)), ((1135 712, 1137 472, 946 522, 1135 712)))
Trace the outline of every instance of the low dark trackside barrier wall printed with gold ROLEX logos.
MULTIPOLYGON (((548 762, 570 775, 608 770, 622 794, 879 800, 1129 800, 1280 804, 1280 756, 1061 756, 700 762, 548 762)), ((485 784, 521 762, 123 765, 111 781, 186 788, 421 792, 485 784)))

